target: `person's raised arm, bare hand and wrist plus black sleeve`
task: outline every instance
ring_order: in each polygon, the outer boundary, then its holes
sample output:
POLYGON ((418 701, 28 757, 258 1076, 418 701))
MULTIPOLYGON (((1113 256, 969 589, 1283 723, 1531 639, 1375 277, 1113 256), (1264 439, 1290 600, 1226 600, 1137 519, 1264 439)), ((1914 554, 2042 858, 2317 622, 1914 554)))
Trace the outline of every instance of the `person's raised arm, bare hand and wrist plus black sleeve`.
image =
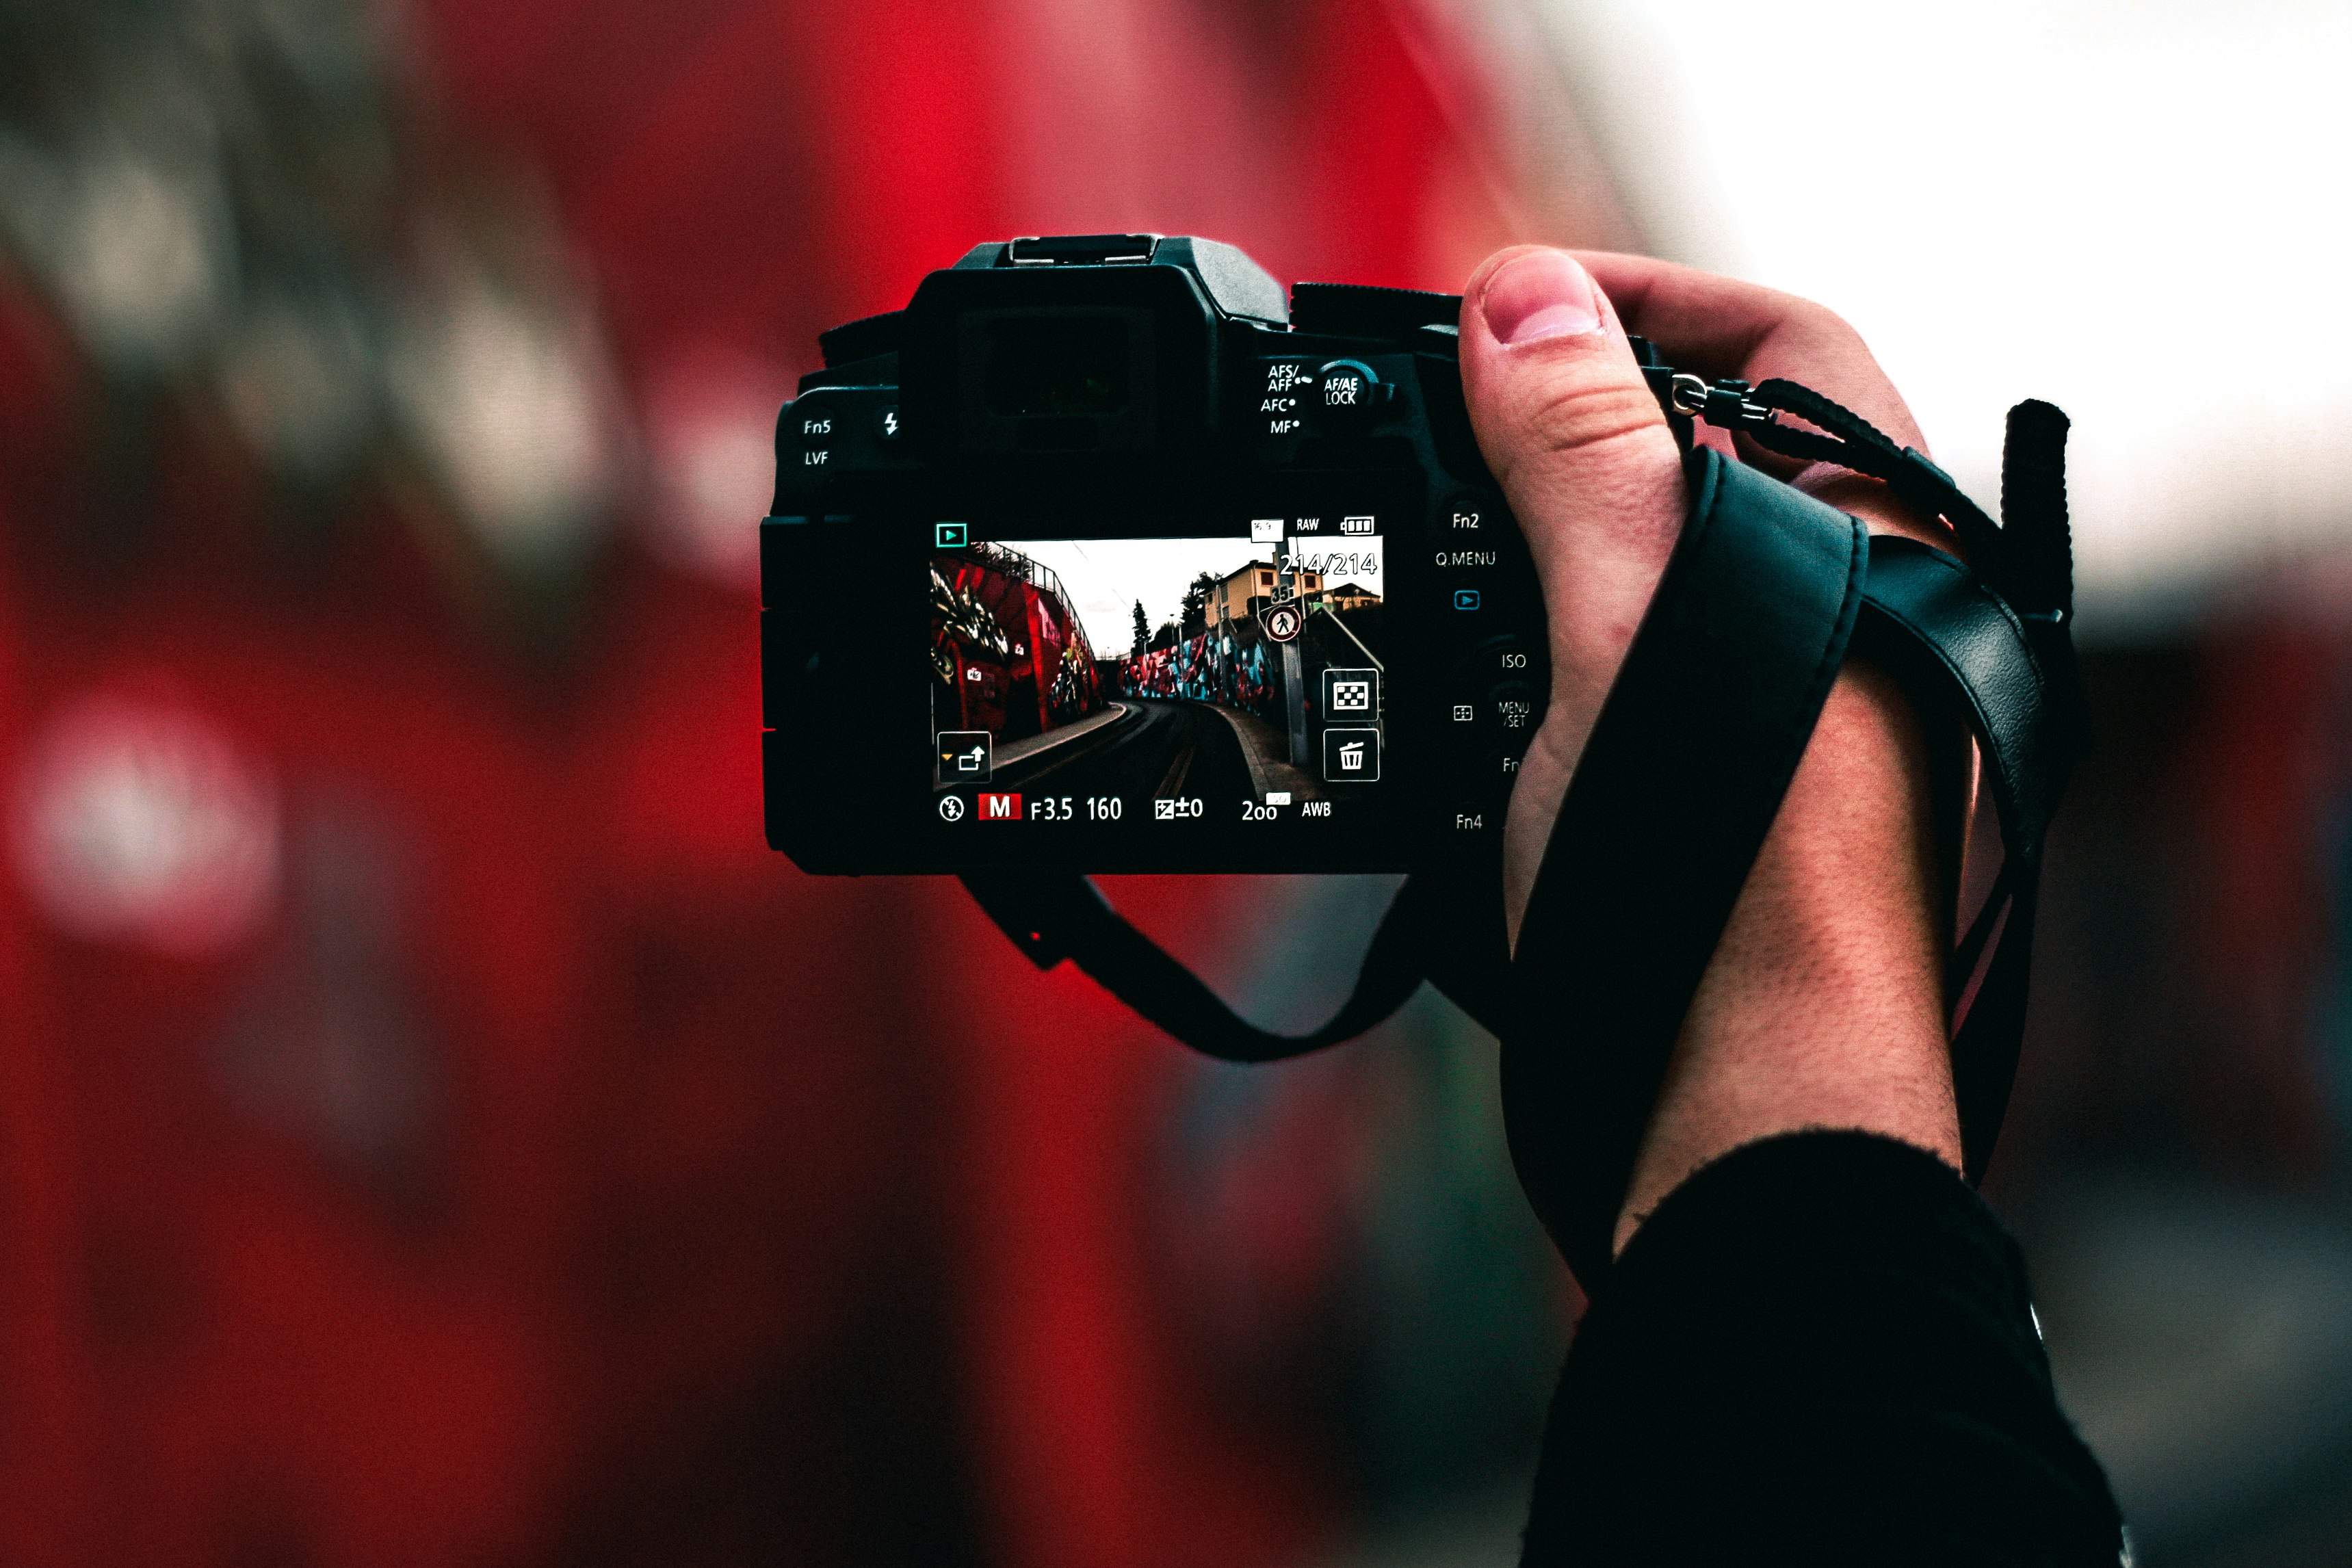
MULTIPOLYGON (((1924 449, 1863 341, 1806 301, 1602 254, 1515 249, 1472 277, 1463 390, 1526 531, 1552 651, 1503 844, 1512 943, 1684 527, 1682 454, 1628 329, 1705 376, 1802 378, 1924 449)), ((1738 456, 1875 536, 1952 545, 1877 480, 1738 456)), ((1578 1262, 1592 1305, 1552 1406, 1529 1563, 2117 1561, 2112 1500, 2058 1413, 2016 1248, 1959 1175, 1955 889, 1931 820, 1955 802, 1931 797, 1929 741, 1889 677, 1844 668, 1661 1091, 1613 1107, 1646 1112, 1646 1131, 1616 1265, 1578 1262)), ((1590 1027, 1573 1041, 1616 1044, 1590 1027)), ((1545 1088, 1517 1079, 1522 1095, 1545 1088)), ((1515 1131, 1515 1154, 1541 1171, 1541 1117, 1526 1121, 1536 1145, 1515 1131)), ((1602 1178, 1613 1190, 1616 1166, 1602 1178)))

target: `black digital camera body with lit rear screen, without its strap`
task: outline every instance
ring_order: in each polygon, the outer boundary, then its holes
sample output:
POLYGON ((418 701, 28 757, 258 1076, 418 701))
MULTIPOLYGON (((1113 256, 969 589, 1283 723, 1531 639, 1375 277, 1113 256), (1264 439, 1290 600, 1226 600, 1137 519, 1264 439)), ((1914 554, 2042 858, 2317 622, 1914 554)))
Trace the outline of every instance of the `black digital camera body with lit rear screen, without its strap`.
POLYGON ((1494 853, 1550 675, 1456 310, 1061 235, 823 334, 760 524, 769 844, 835 875, 1494 853))

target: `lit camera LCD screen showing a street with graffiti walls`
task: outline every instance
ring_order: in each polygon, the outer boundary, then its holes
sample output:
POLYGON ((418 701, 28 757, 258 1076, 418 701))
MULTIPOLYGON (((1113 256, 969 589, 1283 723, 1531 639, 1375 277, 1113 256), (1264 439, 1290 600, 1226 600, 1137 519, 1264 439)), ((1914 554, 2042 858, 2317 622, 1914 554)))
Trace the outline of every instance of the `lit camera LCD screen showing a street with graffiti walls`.
POLYGON ((931 806, 957 832, 1374 825, 1376 517, 1025 538, 934 524, 931 806))

